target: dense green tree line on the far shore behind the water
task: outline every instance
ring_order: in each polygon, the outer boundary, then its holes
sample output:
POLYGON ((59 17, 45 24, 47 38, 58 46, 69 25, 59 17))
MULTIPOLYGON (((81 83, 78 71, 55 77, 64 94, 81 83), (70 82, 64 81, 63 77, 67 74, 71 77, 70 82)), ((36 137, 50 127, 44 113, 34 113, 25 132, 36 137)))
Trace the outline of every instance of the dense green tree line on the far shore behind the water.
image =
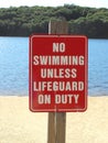
POLYGON ((0 36, 47 33, 50 20, 66 20, 69 34, 108 38, 108 9, 78 7, 10 7, 0 9, 0 36))

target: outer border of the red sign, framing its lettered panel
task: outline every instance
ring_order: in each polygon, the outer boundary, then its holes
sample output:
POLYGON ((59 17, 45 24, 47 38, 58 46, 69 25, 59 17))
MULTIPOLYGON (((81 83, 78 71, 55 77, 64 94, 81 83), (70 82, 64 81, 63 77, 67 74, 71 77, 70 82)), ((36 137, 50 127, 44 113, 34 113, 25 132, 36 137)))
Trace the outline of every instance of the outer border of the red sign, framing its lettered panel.
POLYGON ((30 50, 29 50, 29 105, 30 110, 33 112, 83 112, 87 109, 87 95, 88 95, 88 42, 87 37, 84 35, 31 35, 30 36, 30 50), (32 91, 32 41, 34 37, 83 37, 85 38, 85 108, 84 109, 34 109, 33 108, 33 91, 32 91))

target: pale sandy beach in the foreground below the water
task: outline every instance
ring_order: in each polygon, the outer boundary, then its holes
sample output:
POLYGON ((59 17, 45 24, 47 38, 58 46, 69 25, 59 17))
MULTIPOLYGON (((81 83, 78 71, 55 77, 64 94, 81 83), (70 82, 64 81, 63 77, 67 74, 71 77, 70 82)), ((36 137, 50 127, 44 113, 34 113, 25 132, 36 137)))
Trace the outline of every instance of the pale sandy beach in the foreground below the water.
MULTIPOLYGON (((0 143, 47 143, 47 113, 31 112, 28 97, 0 96, 0 143)), ((66 113, 66 143, 108 143, 108 97, 66 113)))

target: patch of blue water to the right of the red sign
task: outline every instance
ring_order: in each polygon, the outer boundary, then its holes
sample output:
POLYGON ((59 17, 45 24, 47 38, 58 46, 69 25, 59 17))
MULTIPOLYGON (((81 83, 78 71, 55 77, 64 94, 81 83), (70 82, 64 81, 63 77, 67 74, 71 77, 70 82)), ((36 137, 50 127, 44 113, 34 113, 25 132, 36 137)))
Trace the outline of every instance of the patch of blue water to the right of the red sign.
POLYGON ((88 94, 108 96, 108 40, 88 42, 88 94))

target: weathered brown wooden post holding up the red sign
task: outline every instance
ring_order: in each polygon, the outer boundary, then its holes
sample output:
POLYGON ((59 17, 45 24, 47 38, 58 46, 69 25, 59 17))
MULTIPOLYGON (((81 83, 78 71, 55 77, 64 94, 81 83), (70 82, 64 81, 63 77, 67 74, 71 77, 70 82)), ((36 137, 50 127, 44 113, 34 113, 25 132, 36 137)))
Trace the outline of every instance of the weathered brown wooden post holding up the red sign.
MULTIPOLYGON (((48 34, 67 34, 68 28, 66 21, 51 21, 48 24, 48 34)), ((66 113, 48 113, 47 143, 65 143, 66 134, 66 113)))

